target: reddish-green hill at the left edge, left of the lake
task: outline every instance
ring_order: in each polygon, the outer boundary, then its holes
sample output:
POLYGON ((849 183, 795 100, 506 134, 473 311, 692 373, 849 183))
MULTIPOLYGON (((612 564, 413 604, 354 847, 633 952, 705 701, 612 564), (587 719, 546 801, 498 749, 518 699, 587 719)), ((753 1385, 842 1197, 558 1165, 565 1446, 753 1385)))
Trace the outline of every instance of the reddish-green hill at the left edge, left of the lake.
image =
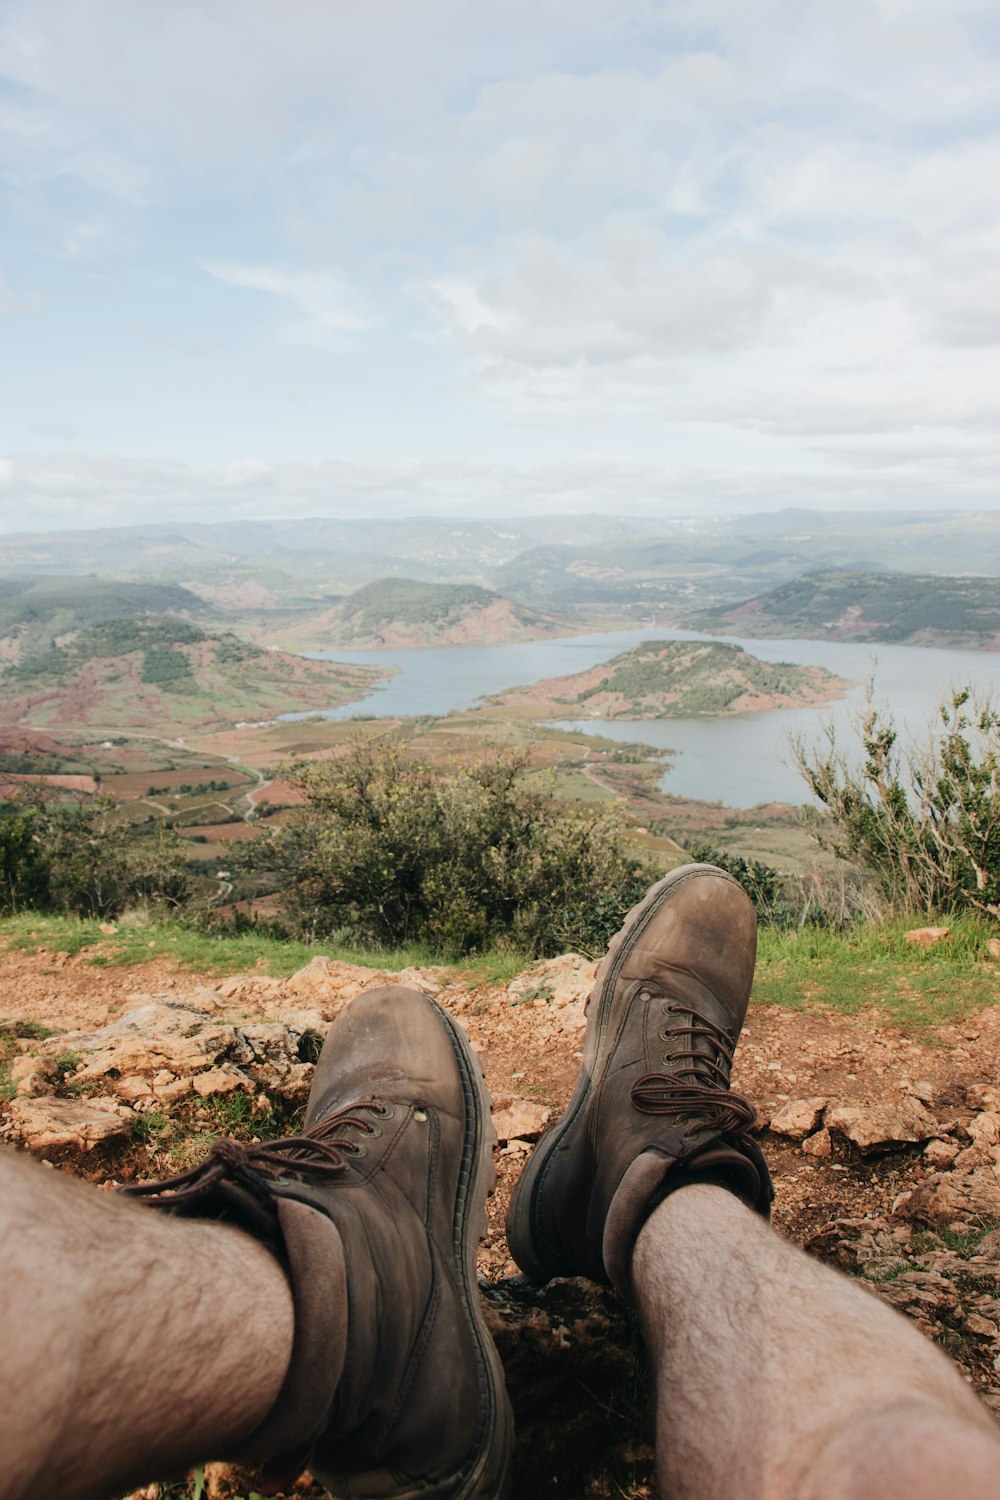
POLYGON ((6 666, 0 724, 169 735, 336 708, 378 678, 370 668, 264 651, 184 621, 114 620, 6 666))

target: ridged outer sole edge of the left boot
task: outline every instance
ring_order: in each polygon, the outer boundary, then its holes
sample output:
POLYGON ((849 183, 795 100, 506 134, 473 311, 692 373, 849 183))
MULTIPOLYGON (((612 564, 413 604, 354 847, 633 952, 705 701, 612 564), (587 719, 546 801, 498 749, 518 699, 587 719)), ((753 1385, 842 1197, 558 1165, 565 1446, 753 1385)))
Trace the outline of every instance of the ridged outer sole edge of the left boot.
POLYGON ((456 1280, 475 1340, 483 1401, 471 1462, 447 1486, 421 1488, 420 1500, 508 1500, 514 1416, 504 1366, 483 1318, 475 1268, 478 1244, 486 1234, 486 1200, 496 1184, 496 1131, 483 1070, 465 1032, 436 1002, 430 1004, 451 1038, 465 1095, 465 1142, 454 1204, 453 1256, 456 1280))

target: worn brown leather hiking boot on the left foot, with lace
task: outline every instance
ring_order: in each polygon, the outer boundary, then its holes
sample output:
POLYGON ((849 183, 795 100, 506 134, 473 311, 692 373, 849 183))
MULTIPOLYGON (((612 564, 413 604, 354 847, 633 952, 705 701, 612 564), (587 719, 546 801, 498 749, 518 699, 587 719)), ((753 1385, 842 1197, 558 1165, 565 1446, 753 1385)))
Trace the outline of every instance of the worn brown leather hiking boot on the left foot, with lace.
POLYGON ((288 1376, 229 1455, 265 1460, 271 1488, 309 1467, 343 1500, 507 1494, 510 1404, 475 1276, 495 1140, 462 1030, 388 987, 330 1028, 301 1136, 219 1140, 124 1190, 249 1230, 288 1274, 288 1376))

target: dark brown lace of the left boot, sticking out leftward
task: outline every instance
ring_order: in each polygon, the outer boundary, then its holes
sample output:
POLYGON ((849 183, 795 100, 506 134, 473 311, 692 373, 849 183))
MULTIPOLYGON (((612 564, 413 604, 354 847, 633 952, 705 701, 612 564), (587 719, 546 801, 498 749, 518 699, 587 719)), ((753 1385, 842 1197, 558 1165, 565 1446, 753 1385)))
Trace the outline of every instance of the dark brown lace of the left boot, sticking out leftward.
POLYGON ((363 1156, 364 1146, 345 1134, 357 1130, 363 1136, 381 1136, 381 1128, 361 1112, 376 1119, 390 1119, 393 1108, 378 1100, 351 1104, 343 1110, 307 1125, 300 1136, 283 1136, 280 1140, 265 1140, 244 1144, 219 1136, 204 1161, 187 1172, 157 1182, 135 1182, 120 1192, 129 1197, 154 1197, 169 1192, 171 1203, 183 1204, 201 1197, 223 1179, 238 1182, 258 1197, 268 1196, 268 1182, 280 1180, 286 1173, 295 1178, 339 1178, 348 1167, 348 1156, 363 1156))

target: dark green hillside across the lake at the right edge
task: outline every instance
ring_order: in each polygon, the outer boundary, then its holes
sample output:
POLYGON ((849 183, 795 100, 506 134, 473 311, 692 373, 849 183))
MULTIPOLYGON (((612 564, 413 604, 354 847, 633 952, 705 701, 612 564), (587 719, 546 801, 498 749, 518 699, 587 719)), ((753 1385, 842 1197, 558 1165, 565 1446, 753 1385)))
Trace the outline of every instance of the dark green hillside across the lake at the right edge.
POLYGON ((736 606, 688 616, 696 630, 910 645, 1000 646, 1000 588, 988 578, 807 573, 736 606))

